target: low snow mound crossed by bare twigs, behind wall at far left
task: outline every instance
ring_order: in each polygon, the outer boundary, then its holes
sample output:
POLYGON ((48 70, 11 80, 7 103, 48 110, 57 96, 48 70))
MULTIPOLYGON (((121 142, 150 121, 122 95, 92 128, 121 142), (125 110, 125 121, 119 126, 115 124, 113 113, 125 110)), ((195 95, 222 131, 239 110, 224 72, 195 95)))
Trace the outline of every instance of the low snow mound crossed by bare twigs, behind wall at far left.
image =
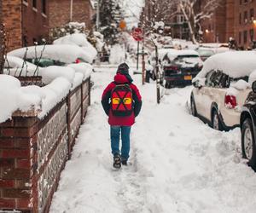
POLYGON ((40 75, 42 69, 40 66, 11 55, 5 57, 3 65, 3 73, 12 76, 40 75))

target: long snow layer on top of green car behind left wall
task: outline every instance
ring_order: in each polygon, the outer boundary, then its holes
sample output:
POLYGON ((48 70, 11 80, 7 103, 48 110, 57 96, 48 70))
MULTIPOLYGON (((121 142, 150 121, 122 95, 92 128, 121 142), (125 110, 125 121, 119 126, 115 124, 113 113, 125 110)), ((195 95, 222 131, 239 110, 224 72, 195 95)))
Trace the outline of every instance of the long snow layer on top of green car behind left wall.
POLYGON ((55 44, 55 45, 38 45, 27 48, 15 49, 9 52, 8 55, 14 55, 23 58, 26 53, 26 58, 48 58, 51 60, 59 60, 61 62, 70 64, 78 58, 91 63, 92 57, 90 52, 80 48, 79 46, 69 44, 55 44))

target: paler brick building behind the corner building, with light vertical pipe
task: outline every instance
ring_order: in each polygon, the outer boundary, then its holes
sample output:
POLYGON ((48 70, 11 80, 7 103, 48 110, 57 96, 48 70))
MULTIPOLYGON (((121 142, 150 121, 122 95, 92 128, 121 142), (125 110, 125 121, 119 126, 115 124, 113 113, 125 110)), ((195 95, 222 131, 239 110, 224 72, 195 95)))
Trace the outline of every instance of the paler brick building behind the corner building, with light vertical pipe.
POLYGON ((50 0, 49 28, 64 26, 70 21, 84 22, 87 28, 91 28, 94 14, 90 0, 50 0))

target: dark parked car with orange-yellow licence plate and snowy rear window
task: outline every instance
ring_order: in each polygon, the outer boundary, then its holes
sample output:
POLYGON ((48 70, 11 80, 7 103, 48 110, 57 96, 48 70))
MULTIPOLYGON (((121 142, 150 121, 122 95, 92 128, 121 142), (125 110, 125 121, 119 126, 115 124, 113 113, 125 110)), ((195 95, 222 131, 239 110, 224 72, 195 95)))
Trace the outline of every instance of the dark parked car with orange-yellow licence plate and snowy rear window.
POLYGON ((201 71, 203 61, 195 50, 169 50, 163 58, 163 75, 166 88, 191 84, 201 71))

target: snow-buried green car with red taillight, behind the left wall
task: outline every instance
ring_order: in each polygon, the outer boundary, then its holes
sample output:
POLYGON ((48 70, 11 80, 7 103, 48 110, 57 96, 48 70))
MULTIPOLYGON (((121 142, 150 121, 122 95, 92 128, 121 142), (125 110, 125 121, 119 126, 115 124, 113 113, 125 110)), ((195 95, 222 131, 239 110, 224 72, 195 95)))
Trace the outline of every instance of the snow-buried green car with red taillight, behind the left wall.
POLYGON ((19 58, 24 58, 35 65, 46 66, 67 66, 67 64, 87 62, 92 63, 90 52, 76 45, 54 44, 38 45, 27 48, 15 49, 8 53, 19 58))

